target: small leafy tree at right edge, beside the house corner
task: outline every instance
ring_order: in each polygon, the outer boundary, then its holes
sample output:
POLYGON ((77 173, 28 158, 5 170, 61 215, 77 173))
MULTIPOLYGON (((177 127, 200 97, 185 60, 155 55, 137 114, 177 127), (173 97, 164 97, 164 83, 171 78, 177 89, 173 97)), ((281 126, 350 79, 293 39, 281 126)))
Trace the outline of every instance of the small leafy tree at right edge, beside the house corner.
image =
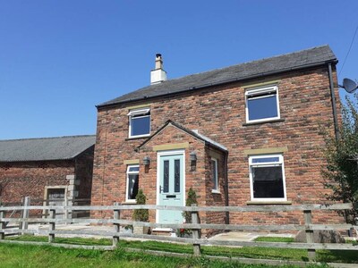
MULTIPOLYGON (((326 147, 324 155, 327 161, 322 169, 325 186, 332 190, 329 200, 357 204, 358 201, 358 95, 354 96, 355 104, 346 98, 342 109, 342 122, 339 137, 325 133, 326 147)), ((358 216, 355 207, 346 211, 345 222, 354 223, 358 216)))

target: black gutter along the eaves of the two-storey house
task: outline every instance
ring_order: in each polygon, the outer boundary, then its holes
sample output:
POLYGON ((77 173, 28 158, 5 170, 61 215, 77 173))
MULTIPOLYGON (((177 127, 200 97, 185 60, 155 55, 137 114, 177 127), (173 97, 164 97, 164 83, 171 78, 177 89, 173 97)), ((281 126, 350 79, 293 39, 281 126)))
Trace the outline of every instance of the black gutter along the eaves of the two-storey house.
POLYGON ((292 67, 292 68, 286 68, 286 69, 282 69, 282 70, 278 70, 278 71, 266 71, 266 72, 261 72, 259 74, 246 76, 246 77, 243 77, 243 78, 236 78, 236 79, 232 79, 232 80, 222 80, 222 81, 219 81, 219 82, 203 84, 203 85, 200 85, 198 87, 192 87, 192 88, 183 88, 182 90, 179 90, 179 91, 176 91, 176 92, 173 92, 173 93, 163 93, 163 94, 158 94, 156 96, 141 96, 141 97, 138 97, 138 98, 132 98, 132 99, 124 100, 124 101, 118 101, 118 102, 115 102, 113 104, 96 105, 96 108, 99 109, 99 108, 103 108, 103 107, 112 107, 112 106, 116 106, 116 105, 123 105, 123 104, 126 104, 126 103, 132 103, 132 102, 136 102, 136 101, 141 101, 143 99, 155 98, 155 97, 159 97, 159 96, 173 96, 173 95, 181 94, 181 93, 184 93, 184 92, 187 92, 187 91, 192 91, 193 89, 208 88, 208 87, 212 87, 212 86, 220 86, 220 85, 224 85, 224 84, 227 84, 227 83, 232 83, 232 82, 237 82, 237 81, 242 81, 242 80, 252 80, 252 79, 257 79, 257 78, 261 78, 261 77, 264 77, 264 76, 278 74, 278 73, 282 73, 282 72, 286 72, 286 71, 298 71, 298 70, 318 67, 318 66, 326 65, 326 64, 329 65, 331 63, 338 63, 338 61, 337 61, 337 59, 333 59, 333 60, 320 62, 320 63, 311 63, 311 64, 299 65, 299 66, 295 66, 295 67, 292 67))

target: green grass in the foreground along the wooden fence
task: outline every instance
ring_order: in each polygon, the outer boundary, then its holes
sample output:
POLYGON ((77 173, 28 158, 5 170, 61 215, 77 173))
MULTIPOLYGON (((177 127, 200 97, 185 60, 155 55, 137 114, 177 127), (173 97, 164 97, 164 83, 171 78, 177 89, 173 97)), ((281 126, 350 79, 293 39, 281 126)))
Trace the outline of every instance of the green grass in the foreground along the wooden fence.
MULTIPOLYGON (((38 236, 22 236, 17 238, 11 238, 14 240, 28 240, 28 241, 47 241, 47 237, 38 237, 38 236)), ((269 238, 269 237, 262 237, 256 239, 256 241, 269 241, 269 242, 293 242, 294 239, 289 238, 269 238)), ((77 244, 77 245, 102 245, 102 246, 110 246, 112 245, 111 239, 62 239, 56 238, 56 243, 65 243, 65 244, 77 244)), ((4 248, 13 247, 17 248, 19 246, 14 245, 1 245, 0 244, 0 259, 3 259, 2 251, 4 248)), ((155 267, 202 267, 202 262, 209 262, 208 267, 268 267, 268 266, 237 266, 238 264, 233 264, 234 266, 227 266, 232 265, 232 263, 222 263, 213 261, 209 261, 208 259, 204 258, 193 258, 193 259, 179 259, 176 258, 165 258, 165 257, 158 257, 158 256, 151 256, 145 254, 136 254, 136 253, 124 253, 124 248, 139 248, 139 249, 149 249, 149 250, 158 250, 158 251, 166 251, 166 252, 176 252, 176 253, 186 253, 192 254, 192 246, 190 245, 181 245, 181 244, 173 244, 173 243, 164 243, 164 242, 157 242, 157 241, 126 241, 120 240, 119 244, 120 248, 115 252, 101 252, 96 250, 80 250, 80 249, 59 249, 59 248, 50 248, 50 247, 35 247, 35 248, 45 248, 45 252, 49 250, 59 250, 60 252, 64 252, 65 257, 79 257, 79 261, 82 260, 82 254, 85 255, 84 258, 91 259, 96 264, 97 267, 107 267, 106 265, 115 265, 113 262, 114 258, 118 257, 118 252, 121 251, 121 255, 126 256, 125 264, 120 267, 126 267, 125 265, 132 265, 135 267, 141 267, 141 264, 146 267, 154 267, 151 266, 155 264, 154 259, 164 260, 166 259, 166 264, 161 266, 156 264, 155 267), (72 254, 72 252, 77 252, 76 254, 72 254), (90 252, 90 253, 89 253, 90 252), (71 253, 71 254, 70 254, 71 253), (90 255, 90 257, 89 257, 90 255), (145 258, 141 258, 140 256, 145 256, 145 258), (104 266, 98 266, 98 260, 100 262, 105 262, 104 266), (149 264, 147 260, 149 259, 149 264), (138 262, 135 265, 132 264, 133 261, 138 262), (200 260, 201 263, 198 263, 200 260), (108 264, 107 264, 108 263, 108 264), (218 266, 216 266, 218 265, 218 266), (223 266, 226 265, 226 266, 223 266)), ((33 246, 29 247, 26 250, 29 250, 33 246)), ((26 248, 26 247, 24 247, 26 248)), ((307 251, 305 249, 291 249, 291 248, 266 248, 266 247, 201 247, 202 255, 222 255, 222 256, 231 256, 231 257, 247 257, 247 258, 264 258, 264 259, 281 259, 281 260, 294 260, 294 261, 307 261, 307 251)), ((357 263, 358 264, 358 254, 356 251, 338 251, 338 250, 318 250, 317 251, 317 261, 322 263, 330 263, 330 262, 338 262, 338 263, 357 263)), ((123 261, 123 260, 122 260, 123 261)), ((121 261, 121 262, 122 262, 121 261)), ((84 261, 83 261, 84 262, 84 261)), ((161 261, 160 261, 161 262, 161 261)), ((86 263, 86 262, 84 262, 86 263)), ((55 263, 56 264, 56 263, 55 263)), ((1 265, 1 264, 0 264, 1 265)), ((81 267, 81 262, 76 267, 81 267), (78 266, 80 265, 80 266, 78 266)), ((86 263, 88 266, 89 264, 86 263)), ((101 264, 102 265, 102 264, 101 264)), ((16 266, 16 265, 15 265, 16 266)), ((21 266, 21 265, 20 265, 21 266)), ((205 266, 205 265, 204 265, 205 266)), ((55 266, 56 267, 56 266, 55 266)), ((67 266, 72 267, 72 266, 67 266)), ((73 266, 74 267, 74 266, 73 266)), ((109 266, 108 266, 109 267, 109 266)), ((114 266, 116 267, 116 266, 114 266)))

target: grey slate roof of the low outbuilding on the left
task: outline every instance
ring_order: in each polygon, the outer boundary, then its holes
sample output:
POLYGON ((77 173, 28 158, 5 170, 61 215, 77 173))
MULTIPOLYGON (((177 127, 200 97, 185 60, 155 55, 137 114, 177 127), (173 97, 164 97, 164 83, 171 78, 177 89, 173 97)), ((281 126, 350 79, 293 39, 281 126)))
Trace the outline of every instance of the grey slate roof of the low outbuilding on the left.
POLYGON ((0 140, 0 162, 69 160, 95 142, 95 135, 0 140))

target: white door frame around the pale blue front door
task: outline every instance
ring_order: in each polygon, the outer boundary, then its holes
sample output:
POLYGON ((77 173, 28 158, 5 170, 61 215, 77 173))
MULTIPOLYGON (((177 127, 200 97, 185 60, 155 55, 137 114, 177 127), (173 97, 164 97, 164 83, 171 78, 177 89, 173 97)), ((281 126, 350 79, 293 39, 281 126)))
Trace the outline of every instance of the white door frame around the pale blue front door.
MULTIPOLYGON (((185 150, 168 150, 168 151, 158 151, 157 153, 157 201, 156 205, 159 205, 159 184, 160 184, 160 156, 163 155, 183 155, 183 205, 185 205, 186 199, 186 188, 185 188, 185 150)), ((156 222, 159 222, 159 211, 156 211, 156 222)))

